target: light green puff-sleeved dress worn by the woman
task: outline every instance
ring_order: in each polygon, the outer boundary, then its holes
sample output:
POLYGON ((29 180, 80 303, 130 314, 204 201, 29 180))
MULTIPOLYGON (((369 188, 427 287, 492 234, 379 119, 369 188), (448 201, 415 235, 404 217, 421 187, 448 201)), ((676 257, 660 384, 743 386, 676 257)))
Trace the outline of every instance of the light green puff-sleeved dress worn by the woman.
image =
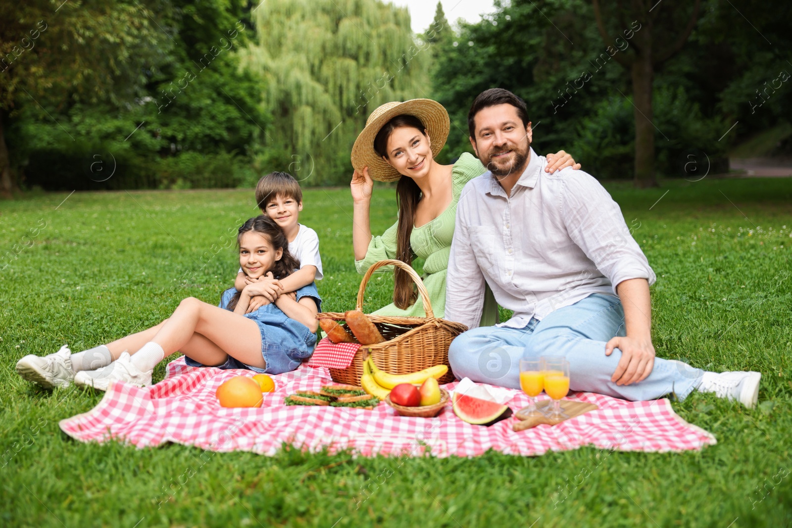
MULTIPOLYGON (((484 165, 478 161, 478 158, 472 154, 462 154, 451 169, 453 184, 451 204, 431 222, 420 227, 413 227, 413 232, 410 234, 409 245, 413 249, 413 253, 419 258, 425 259, 424 276, 421 279, 428 291, 435 317, 444 317, 445 314, 446 272, 448 256, 451 254, 451 239, 454 237, 456 204, 459 202, 459 194, 468 181, 481 176, 484 172, 484 165)), ((364 275, 368 268, 371 268, 371 264, 379 260, 396 258, 397 233, 398 221, 390 226, 381 237, 371 238, 366 256, 363 260, 355 261, 355 267, 360 275, 364 275)), ((386 266, 380 268, 378 272, 392 269, 392 266, 386 266)), ((486 287, 485 290, 481 325, 492 326, 497 323, 497 302, 495 302, 489 287, 486 287)), ((391 303, 372 313, 402 317, 426 316, 421 295, 418 295, 417 301, 407 310, 401 310, 391 303)))

